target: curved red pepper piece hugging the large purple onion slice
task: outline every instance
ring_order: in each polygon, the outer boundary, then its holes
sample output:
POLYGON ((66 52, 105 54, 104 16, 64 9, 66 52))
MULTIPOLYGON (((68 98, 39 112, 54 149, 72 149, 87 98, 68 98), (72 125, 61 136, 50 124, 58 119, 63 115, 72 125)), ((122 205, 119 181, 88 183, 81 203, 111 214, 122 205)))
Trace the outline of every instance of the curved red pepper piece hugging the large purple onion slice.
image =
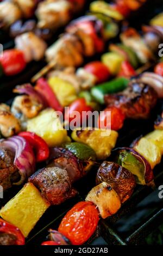
POLYGON ((34 132, 20 132, 19 136, 26 139, 30 145, 32 145, 35 155, 36 155, 36 162, 42 162, 47 160, 49 156, 49 148, 47 143, 34 132))

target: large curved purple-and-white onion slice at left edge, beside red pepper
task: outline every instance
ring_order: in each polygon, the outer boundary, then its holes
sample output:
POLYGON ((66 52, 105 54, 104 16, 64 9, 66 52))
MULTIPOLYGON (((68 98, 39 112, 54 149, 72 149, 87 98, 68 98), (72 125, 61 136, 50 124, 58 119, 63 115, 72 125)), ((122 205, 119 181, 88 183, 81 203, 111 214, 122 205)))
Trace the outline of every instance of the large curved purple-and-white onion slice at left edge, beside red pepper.
POLYGON ((21 185, 35 172, 35 156, 33 148, 23 137, 13 136, 0 140, 0 147, 9 148, 15 153, 14 164, 21 175, 20 181, 14 185, 21 185))

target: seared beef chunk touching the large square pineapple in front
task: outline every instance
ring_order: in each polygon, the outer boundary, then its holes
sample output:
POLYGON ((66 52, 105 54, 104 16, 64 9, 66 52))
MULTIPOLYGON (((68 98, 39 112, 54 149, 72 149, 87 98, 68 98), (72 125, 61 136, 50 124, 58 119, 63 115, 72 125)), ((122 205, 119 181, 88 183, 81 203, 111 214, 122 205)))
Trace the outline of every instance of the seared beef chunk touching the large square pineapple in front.
POLYGON ((65 169, 58 167, 43 168, 28 180, 40 190, 42 196, 52 205, 59 205, 77 194, 65 169))

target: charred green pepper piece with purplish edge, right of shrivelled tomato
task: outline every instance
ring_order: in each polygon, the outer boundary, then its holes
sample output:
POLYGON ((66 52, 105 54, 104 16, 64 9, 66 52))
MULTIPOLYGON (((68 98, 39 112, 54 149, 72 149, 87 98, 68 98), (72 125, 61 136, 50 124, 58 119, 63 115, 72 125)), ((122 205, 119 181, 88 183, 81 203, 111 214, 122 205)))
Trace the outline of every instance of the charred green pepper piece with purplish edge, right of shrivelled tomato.
POLYGON ((120 149, 119 153, 118 163, 134 174, 137 184, 146 185, 153 180, 151 166, 143 156, 132 149, 125 148, 120 149))

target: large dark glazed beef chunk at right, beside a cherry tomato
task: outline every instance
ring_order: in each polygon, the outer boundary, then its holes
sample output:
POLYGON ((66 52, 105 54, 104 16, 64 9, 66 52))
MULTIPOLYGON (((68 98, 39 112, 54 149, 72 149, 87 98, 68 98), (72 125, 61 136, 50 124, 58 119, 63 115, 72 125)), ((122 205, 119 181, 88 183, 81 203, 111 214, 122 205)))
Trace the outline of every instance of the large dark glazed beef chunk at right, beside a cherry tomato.
POLYGON ((122 93, 105 95, 105 103, 122 109, 127 118, 146 119, 156 105, 158 95, 147 84, 132 80, 122 93))

